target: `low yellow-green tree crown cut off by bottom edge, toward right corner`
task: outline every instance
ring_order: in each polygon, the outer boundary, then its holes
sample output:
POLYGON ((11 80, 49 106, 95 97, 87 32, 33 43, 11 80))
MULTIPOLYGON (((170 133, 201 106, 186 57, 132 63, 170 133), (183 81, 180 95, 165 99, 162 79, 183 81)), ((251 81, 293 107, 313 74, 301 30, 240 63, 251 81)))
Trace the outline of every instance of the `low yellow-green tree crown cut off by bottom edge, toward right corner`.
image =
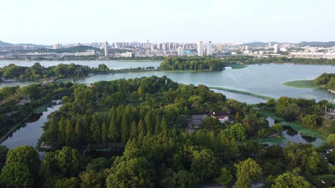
POLYGON ((287 172, 279 175, 271 188, 311 188, 311 185, 303 177, 287 172))

